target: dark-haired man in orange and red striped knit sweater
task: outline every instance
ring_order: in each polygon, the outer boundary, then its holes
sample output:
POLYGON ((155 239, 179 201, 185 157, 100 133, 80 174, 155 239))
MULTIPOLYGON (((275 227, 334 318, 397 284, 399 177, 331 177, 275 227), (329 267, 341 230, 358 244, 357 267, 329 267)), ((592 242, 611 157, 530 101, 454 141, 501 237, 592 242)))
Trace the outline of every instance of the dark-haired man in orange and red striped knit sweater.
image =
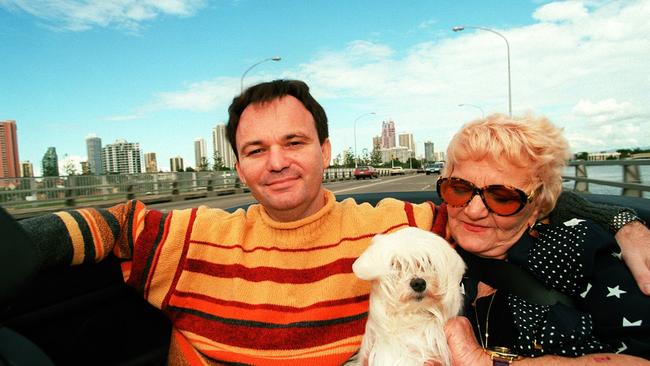
POLYGON ((26 220, 39 266, 123 258, 127 284, 172 321, 170 364, 341 364, 358 350, 368 310, 352 262, 378 233, 443 233, 444 209, 336 202, 321 184, 327 117, 303 82, 253 86, 229 114, 237 171, 260 204, 163 214, 131 201, 26 220))

